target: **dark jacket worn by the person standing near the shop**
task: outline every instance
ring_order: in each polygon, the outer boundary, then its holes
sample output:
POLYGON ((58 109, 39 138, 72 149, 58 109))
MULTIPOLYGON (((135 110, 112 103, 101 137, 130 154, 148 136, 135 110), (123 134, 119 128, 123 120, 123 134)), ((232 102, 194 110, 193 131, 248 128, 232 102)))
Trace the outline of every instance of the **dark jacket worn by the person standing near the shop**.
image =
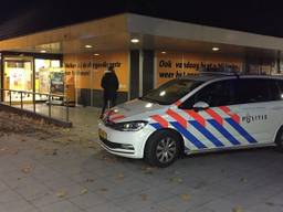
POLYGON ((115 72, 107 71, 102 78, 101 86, 104 88, 104 98, 116 98, 119 82, 115 72))

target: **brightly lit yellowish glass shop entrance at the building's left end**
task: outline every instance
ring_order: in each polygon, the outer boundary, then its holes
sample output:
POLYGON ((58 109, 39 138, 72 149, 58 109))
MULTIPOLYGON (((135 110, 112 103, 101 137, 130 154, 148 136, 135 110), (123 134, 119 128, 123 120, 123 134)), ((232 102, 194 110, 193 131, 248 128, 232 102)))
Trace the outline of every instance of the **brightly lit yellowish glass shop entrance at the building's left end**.
MULTIPOLYGON (((64 72, 60 65, 60 60, 33 60, 32 56, 4 56, 3 88, 23 92, 34 91, 35 93, 41 94, 59 93, 57 91, 60 91, 60 94, 63 95, 64 72), (61 82, 57 81, 59 75, 61 82), (56 83, 54 83, 54 78, 56 80, 56 83), (54 84, 56 85, 54 86, 54 84)), ((10 93, 6 92, 4 100, 10 100, 10 98, 13 103, 19 103, 21 100, 21 95, 20 93, 12 92, 10 96, 10 93)), ((25 103, 32 102, 32 94, 22 93, 22 100, 25 103)), ((48 100, 48 97, 45 95, 35 95, 35 100, 48 100)))

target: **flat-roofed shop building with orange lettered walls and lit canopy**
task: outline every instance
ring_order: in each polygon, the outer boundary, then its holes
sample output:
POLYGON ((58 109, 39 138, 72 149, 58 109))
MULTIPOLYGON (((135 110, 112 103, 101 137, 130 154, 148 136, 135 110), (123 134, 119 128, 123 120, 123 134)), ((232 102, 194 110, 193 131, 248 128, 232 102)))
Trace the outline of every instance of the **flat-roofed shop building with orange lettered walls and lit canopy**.
POLYGON ((281 74, 281 38, 122 13, 0 41, 1 88, 63 94, 75 105, 101 107, 109 64, 123 103, 199 72, 281 74))

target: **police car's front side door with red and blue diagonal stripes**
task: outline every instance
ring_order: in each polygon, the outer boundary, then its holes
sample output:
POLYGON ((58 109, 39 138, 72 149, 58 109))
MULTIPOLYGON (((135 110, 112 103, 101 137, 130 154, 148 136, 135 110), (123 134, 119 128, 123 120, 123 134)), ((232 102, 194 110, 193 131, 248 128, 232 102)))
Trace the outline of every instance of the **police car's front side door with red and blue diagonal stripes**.
POLYGON ((177 114, 188 121, 186 146, 190 150, 221 149, 240 146, 239 106, 235 105, 235 78, 213 82, 190 96, 177 114), (208 108, 193 108, 197 103, 207 103, 208 108), (201 145, 200 145, 201 144, 201 145))

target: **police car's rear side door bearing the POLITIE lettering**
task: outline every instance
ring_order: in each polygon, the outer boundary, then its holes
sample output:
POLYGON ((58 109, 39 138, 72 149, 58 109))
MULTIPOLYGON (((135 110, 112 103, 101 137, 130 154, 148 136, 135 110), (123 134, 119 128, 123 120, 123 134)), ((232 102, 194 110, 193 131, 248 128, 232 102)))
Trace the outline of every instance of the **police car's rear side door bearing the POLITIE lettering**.
POLYGON ((276 113, 272 112, 272 93, 268 78, 241 78, 237 84, 239 116, 247 130, 244 137, 254 138, 254 144, 271 142, 276 113))

